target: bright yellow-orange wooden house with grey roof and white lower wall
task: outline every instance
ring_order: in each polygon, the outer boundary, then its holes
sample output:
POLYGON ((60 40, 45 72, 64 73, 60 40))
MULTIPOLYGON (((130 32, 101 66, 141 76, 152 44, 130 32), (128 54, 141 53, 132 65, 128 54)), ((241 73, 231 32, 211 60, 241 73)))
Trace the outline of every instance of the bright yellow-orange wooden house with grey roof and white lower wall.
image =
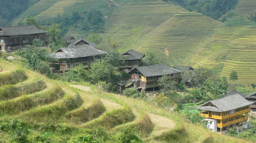
POLYGON ((205 117, 207 127, 214 132, 223 132, 231 125, 241 124, 248 120, 250 112, 250 104, 244 97, 236 93, 196 107, 199 115, 205 117))

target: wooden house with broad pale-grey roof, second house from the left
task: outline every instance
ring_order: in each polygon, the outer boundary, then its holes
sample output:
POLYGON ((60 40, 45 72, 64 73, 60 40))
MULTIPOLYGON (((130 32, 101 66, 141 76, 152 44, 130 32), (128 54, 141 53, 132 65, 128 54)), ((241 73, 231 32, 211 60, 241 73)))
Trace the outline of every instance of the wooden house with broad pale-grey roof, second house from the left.
POLYGON ((101 59, 107 52, 96 49, 97 45, 85 39, 79 39, 68 45, 67 48, 60 48, 49 56, 52 58, 52 71, 67 71, 82 64, 90 67, 94 59, 101 59))

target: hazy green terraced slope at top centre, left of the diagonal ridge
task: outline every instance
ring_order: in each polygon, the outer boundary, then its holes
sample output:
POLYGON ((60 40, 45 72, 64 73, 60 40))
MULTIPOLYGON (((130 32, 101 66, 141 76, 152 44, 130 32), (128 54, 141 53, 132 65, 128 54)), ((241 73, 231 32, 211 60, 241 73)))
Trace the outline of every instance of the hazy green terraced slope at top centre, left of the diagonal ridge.
POLYGON ((113 10, 105 35, 117 42, 123 51, 138 49, 146 39, 145 34, 182 10, 163 1, 130 1, 113 10))

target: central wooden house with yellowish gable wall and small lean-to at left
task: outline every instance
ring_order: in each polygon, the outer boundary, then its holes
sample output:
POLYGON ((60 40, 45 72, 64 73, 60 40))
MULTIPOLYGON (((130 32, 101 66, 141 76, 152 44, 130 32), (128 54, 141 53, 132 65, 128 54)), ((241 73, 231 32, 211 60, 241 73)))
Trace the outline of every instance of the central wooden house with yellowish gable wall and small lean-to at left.
POLYGON ((159 91, 160 86, 157 81, 160 77, 167 75, 169 79, 178 83, 181 73, 180 70, 173 69, 168 64, 135 67, 129 72, 131 79, 117 83, 117 90, 122 93, 125 88, 138 87, 145 93, 159 91))

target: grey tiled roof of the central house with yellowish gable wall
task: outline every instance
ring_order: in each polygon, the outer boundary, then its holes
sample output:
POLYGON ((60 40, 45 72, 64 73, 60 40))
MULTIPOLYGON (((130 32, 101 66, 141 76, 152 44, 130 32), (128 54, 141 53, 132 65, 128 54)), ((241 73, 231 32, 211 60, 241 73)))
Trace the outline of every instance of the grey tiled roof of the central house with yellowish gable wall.
MULTIPOLYGON (((140 71, 143 76, 163 76, 163 75, 169 75, 173 73, 181 73, 182 71, 176 70, 172 67, 170 67, 168 64, 156 64, 156 65, 148 65, 148 66, 141 66, 141 67, 135 67, 134 69, 137 69, 140 71)), ((131 70, 129 73, 131 73, 133 70, 131 70)))

